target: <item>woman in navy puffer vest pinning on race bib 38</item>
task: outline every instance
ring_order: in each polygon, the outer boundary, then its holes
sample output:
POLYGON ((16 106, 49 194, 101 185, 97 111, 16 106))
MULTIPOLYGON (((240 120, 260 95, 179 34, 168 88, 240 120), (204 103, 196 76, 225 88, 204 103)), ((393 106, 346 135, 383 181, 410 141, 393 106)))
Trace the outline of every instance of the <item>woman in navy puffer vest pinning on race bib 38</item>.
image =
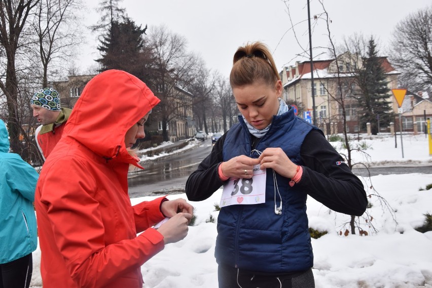
POLYGON ((268 48, 234 54, 230 85, 241 113, 186 183, 201 201, 222 185, 215 257, 220 287, 314 287, 307 195, 361 216, 362 182, 322 132, 280 98, 282 83, 268 48))

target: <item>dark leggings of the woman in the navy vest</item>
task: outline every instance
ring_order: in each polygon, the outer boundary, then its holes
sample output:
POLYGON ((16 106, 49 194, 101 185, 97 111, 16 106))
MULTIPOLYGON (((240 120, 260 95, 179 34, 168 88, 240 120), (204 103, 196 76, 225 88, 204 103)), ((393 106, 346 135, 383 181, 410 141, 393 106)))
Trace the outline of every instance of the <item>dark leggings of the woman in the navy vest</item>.
POLYGON ((219 265, 219 288, 315 288, 312 269, 280 275, 258 275, 219 265))

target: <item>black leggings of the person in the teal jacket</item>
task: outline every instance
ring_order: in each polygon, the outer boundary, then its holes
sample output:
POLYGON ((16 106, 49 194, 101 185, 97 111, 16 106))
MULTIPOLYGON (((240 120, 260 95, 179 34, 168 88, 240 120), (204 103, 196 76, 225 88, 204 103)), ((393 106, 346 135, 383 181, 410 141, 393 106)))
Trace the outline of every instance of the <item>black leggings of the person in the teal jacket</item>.
POLYGON ((32 271, 31 253, 12 262, 0 264, 0 288, 28 288, 32 271))

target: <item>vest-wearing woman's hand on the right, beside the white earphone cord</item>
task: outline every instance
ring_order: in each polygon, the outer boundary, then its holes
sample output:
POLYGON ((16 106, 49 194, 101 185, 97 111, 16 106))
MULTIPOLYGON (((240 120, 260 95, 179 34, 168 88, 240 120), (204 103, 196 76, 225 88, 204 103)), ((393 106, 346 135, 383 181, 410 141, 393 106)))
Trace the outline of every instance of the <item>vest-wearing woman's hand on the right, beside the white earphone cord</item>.
POLYGON ((261 163, 261 170, 271 168, 286 178, 293 178, 297 173, 297 165, 286 156, 281 148, 266 148, 258 159, 261 163))

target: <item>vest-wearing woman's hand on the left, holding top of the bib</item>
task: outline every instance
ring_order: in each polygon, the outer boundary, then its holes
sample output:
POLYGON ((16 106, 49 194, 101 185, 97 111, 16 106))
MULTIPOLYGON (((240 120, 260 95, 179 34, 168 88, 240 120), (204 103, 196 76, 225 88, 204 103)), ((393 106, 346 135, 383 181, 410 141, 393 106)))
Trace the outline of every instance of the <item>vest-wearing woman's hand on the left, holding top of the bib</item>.
POLYGON ((236 156, 226 162, 222 162, 222 174, 233 178, 252 178, 254 166, 259 164, 258 158, 250 158, 245 155, 236 156))

